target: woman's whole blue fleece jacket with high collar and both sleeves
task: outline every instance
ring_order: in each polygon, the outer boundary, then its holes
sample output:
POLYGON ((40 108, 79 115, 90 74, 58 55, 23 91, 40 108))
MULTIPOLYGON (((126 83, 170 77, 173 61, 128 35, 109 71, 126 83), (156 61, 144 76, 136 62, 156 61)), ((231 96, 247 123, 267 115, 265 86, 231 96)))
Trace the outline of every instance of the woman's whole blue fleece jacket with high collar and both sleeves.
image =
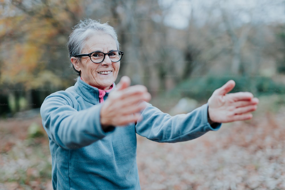
POLYGON ((98 89, 80 77, 74 86, 44 100, 40 114, 50 142, 54 189, 140 189, 136 133, 156 142, 174 143, 218 130, 221 125, 209 125, 207 104, 173 117, 148 104, 137 124, 104 132, 101 105, 98 89))

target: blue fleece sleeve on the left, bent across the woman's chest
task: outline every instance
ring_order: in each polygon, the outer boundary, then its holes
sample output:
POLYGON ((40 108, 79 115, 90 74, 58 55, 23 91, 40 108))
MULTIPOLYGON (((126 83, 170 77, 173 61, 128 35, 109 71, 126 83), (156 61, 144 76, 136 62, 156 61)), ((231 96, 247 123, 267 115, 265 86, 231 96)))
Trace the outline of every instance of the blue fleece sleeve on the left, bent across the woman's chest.
MULTIPOLYGON (((65 149, 81 148, 104 138, 100 124, 101 105, 77 111, 67 92, 46 97, 40 108, 42 124, 49 138, 65 149)), ((114 130, 112 128, 110 131, 114 130)))

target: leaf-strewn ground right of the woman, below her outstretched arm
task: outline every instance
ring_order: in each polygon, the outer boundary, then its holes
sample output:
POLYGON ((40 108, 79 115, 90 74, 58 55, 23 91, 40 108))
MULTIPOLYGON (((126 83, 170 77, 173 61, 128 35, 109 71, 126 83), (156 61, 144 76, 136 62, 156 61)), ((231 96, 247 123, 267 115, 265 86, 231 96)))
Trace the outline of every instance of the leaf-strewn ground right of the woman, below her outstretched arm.
POLYGON ((285 189, 284 111, 223 124, 192 141, 138 137, 142 189, 285 189))

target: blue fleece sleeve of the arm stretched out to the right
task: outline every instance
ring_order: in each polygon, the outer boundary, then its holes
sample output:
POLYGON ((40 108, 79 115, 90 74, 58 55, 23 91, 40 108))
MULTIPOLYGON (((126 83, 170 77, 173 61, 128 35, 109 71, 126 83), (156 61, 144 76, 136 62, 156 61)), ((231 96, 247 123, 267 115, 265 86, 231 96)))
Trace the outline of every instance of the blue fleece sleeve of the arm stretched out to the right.
POLYGON ((170 116, 148 104, 141 120, 136 124, 137 134, 156 142, 182 142, 202 136, 210 130, 218 130, 221 123, 212 127, 208 122, 208 104, 188 114, 170 116))

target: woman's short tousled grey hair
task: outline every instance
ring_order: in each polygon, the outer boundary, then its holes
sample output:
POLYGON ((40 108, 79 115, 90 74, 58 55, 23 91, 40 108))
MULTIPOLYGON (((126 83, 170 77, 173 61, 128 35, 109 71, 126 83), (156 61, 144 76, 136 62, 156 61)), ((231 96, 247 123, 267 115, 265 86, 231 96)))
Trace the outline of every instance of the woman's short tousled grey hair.
MULTIPOLYGON (((70 58, 81 53, 86 40, 88 40, 94 32, 110 34, 114 38, 117 49, 119 50, 117 33, 112 26, 108 23, 102 24, 100 21, 95 21, 93 19, 85 19, 84 21, 80 20, 79 23, 72 28, 72 32, 69 35, 67 46, 70 58)), ((73 67, 80 76, 80 71, 77 71, 72 63, 70 66, 73 67)))

